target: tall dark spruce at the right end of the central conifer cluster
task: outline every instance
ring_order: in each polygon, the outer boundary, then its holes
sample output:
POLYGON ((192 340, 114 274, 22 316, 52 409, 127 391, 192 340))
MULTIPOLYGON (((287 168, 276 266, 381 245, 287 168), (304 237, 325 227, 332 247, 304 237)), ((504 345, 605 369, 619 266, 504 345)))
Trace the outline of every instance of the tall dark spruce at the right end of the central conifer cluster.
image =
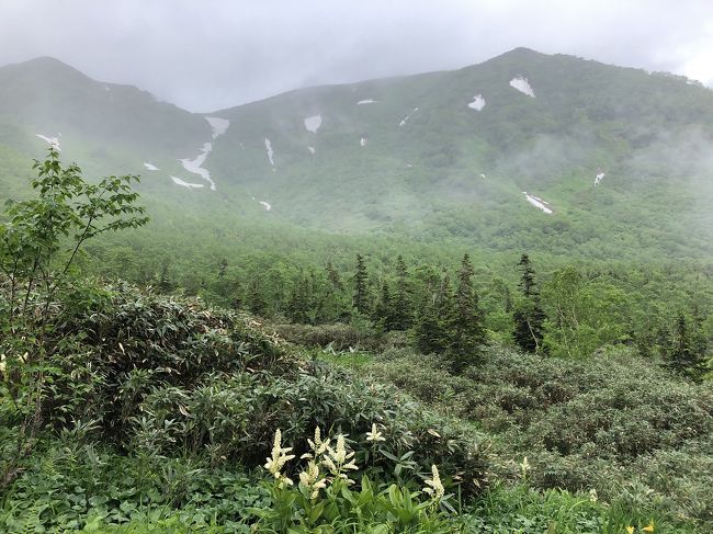
POLYGON ((479 359, 480 348, 486 339, 483 311, 473 287, 474 274, 471 258, 465 254, 457 273, 459 284, 452 316, 450 353, 455 371, 461 371, 479 359))

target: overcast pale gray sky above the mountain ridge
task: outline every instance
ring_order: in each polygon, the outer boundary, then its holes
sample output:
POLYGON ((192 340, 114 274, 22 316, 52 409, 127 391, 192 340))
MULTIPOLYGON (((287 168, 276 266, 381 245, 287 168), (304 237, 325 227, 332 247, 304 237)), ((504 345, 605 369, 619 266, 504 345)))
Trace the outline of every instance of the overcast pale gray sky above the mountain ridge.
POLYGON ((713 84, 713 0, 0 0, 0 65, 53 56, 192 111, 518 46, 713 84))

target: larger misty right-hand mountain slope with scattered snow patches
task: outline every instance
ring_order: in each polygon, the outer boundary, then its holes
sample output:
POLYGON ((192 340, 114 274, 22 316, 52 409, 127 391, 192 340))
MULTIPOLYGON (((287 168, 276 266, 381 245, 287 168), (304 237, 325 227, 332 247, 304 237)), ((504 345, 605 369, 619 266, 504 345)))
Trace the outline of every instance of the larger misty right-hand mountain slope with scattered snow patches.
POLYGON ((506 247, 527 247, 518 234, 534 228, 569 247, 573 234, 626 234, 633 216, 647 229, 640 246, 688 235, 706 249, 688 230, 710 236, 713 92, 684 78, 516 49, 215 115, 231 127, 206 166, 297 223, 506 247))

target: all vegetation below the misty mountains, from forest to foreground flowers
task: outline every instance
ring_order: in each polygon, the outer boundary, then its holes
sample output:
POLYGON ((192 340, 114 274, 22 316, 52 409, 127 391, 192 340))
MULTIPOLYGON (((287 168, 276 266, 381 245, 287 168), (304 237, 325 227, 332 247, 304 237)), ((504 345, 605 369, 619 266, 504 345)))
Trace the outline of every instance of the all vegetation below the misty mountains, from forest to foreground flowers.
POLYGON ((298 230, 181 260, 137 177, 33 172, 0 226, 4 530, 713 525, 710 264, 298 230))

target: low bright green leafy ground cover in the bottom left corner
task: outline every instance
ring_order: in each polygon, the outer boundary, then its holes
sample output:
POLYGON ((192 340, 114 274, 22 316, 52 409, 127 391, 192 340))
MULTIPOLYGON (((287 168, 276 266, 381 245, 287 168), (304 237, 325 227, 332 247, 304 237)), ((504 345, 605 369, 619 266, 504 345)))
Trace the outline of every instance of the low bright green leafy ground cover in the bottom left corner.
POLYGON ((270 505, 269 492, 239 470, 126 457, 77 440, 64 434, 32 459, 3 496, 0 530, 247 533, 248 509, 270 505))

